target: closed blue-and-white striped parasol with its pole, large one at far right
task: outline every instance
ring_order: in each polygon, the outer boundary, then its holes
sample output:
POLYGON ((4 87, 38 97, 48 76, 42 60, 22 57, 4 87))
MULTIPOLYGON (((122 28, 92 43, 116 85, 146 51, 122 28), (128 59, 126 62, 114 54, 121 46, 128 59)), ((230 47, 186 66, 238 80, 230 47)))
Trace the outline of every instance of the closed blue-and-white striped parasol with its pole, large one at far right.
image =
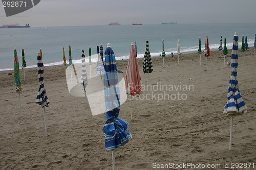
POLYGON ((223 113, 231 116, 230 118, 230 140, 229 150, 232 145, 232 122, 233 116, 241 115, 247 112, 247 107, 240 94, 237 80, 237 68, 238 68, 238 35, 234 33, 233 48, 231 54, 231 76, 229 79, 228 91, 227 91, 227 104, 225 105, 223 113))

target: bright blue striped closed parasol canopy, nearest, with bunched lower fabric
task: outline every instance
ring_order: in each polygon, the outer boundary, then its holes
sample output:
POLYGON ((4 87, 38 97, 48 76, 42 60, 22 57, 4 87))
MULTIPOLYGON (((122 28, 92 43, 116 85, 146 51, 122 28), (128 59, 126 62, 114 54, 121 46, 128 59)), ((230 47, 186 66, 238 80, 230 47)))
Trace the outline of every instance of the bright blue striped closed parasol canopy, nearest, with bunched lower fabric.
POLYGON ((129 124, 117 118, 120 110, 120 93, 118 87, 116 58, 110 44, 105 50, 105 72, 103 75, 106 122, 103 127, 106 150, 114 150, 128 142, 132 137, 127 129, 129 124))

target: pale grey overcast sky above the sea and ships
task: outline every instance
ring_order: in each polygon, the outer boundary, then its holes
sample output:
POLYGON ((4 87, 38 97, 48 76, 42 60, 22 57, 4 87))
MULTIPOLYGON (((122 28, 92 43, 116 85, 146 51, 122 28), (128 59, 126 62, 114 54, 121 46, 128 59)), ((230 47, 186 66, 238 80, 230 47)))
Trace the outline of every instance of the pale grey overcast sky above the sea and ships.
MULTIPOLYGON (((22 1, 22 0, 20 0, 22 1)), ((256 23, 256 0, 41 0, 33 8, 6 17, 0 7, 0 26, 96 26, 178 23, 256 23)))

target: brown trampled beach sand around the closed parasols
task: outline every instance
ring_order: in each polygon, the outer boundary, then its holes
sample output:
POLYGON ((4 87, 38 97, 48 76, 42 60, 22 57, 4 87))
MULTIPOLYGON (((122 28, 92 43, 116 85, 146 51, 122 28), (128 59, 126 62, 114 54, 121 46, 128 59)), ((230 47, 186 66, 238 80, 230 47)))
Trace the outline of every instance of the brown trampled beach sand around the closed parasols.
MULTIPOLYGON (((239 88, 248 112, 233 118, 232 150, 230 117, 223 114, 230 67, 224 68, 219 51, 211 52, 207 71, 203 71, 206 58, 202 55, 200 65, 197 53, 182 54, 180 64, 177 56, 165 57, 164 68, 162 58, 155 57, 149 84, 155 88, 158 85, 158 89, 144 90, 143 95, 148 94, 148 98, 134 100, 133 119, 130 101, 121 105, 119 117, 130 124, 133 138, 115 150, 116 169, 155 169, 153 165, 169 163, 220 164, 221 168, 207 169, 223 169, 223 164, 229 163, 231 168, 231 163, 240 162, 254 162, 256 168, 256 58, 251 49, 245 52, 244 64, 239 52, 239 88), (168 89, 160 89, 166 85, 168 89), (178 85, 182 89, 176 90, 178 85), (166 99, 161 99, 163 94, 166 99)), ((230 55, 231 51, 227 61, 230 55)), ((143 60, 139 59, 138 64, 141 83, 145 85, 143 60)), ((125 75, 127 60, 117 61, 117 66, 125 75)), ((45 68, 45 88, 50 100, 46 108, 48 137, 42 108, 35 104, 37 68, 26 69, 25 83, 23 71, 20 72, 24 88, 20 98, 22 116, 14 77, 8 75, 12 70, 0 72, 0 169, 112 169, 111 152, 104 147, 105 115, 92 116, 84 97, 69 94, 65 69, 63 65, 45 68)))

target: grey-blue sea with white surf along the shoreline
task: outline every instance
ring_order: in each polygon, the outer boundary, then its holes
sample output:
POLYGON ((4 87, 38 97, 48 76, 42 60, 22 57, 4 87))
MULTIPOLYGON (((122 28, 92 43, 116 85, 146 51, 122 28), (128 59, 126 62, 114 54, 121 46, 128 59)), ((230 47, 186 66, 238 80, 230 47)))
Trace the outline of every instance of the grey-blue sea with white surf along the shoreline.
MULTIPOLYGON (((256 23, 206 23, 171 25, 120 25, 120 26, 71 26, 71 27, 33 27, 0 29, 0 71, 13 69, 14 48, 17 50, 19 65, 22 65, 22 48, 25 51, 27 67, 37 66, 37 53, 42 50, 44 65, 63 64, 62 47, 65 48, 69 63, 68 46, 71 45, 73 63, 81 62, 84 50, 86 62, 89 62, 89 47, 92 49, 92 62, 97 62, 97 45, 111 44, 116 60, 128 59, 131 43, 137 44, 137 58, 143 58, 146 39, 152 57, 162 53, 162 39, 166 54, 177 54, 177 42, 180 41, 180 53, 195 53, 204 50, 208 36, 210 50, 218 50, 220 37, 226 37, 227 48, 232 48, 234 32, 238 33, 239 46, 242 35, 247 36, 248 45, 254 45, 256 23)), ((251 47, 252 48, 252 47, 251 47)))

